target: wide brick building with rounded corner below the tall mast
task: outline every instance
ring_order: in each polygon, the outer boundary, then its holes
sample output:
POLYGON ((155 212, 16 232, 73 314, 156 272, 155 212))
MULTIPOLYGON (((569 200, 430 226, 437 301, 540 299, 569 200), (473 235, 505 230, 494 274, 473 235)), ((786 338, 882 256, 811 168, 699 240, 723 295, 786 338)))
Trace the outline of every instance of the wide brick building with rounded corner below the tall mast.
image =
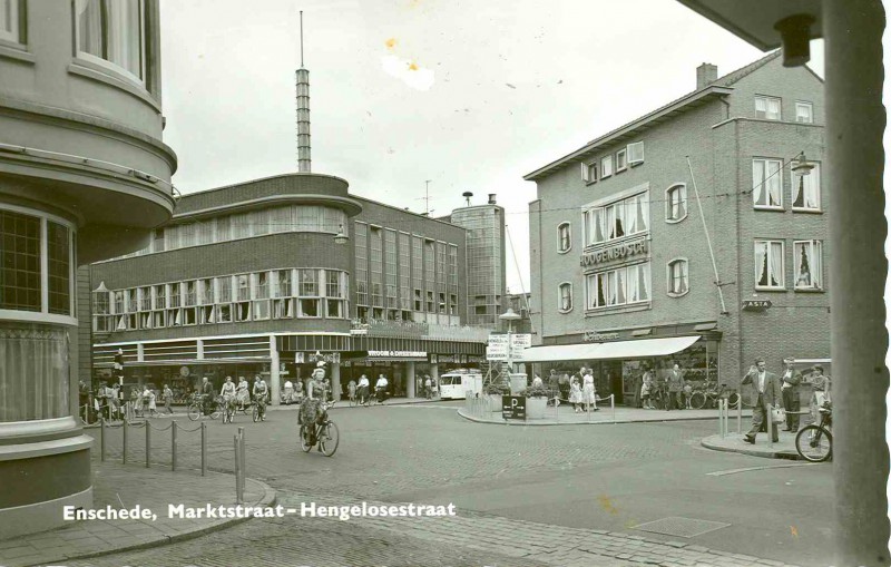
POLYGON ((275 393, 321 358, 335 394, 383 373, 414 395, 418 373, 483 353, 461 326, 464 237, 330 175, 186 195, 148 247, 91 266, 94 379, 120 350, 125 390, 168 383, 185 401, 204 377, 218 390, 260 374, 275 393))

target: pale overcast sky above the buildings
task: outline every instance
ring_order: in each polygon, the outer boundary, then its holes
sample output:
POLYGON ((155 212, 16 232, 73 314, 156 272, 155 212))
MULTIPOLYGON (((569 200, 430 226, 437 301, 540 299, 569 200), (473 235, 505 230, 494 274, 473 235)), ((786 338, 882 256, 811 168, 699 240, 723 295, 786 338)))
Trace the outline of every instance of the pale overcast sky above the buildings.
POLYGON ((529 286, 525 174, 694 90, 702 62, 725 75, 763 56, 666 0, 165 1, 182 193, 296 170, 300 10, 312 170, 419 213, 429 179, 433 216, 497 194, 511 292, 529 286))

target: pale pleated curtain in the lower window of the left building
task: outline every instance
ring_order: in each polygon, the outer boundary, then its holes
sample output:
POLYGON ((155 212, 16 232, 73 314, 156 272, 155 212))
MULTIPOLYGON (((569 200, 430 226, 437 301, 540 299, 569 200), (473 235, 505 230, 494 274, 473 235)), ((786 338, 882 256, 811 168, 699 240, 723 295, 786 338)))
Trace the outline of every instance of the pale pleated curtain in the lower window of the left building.
POLYGON ((0 323, 0 421, 69 416, 68 332, 0 323))

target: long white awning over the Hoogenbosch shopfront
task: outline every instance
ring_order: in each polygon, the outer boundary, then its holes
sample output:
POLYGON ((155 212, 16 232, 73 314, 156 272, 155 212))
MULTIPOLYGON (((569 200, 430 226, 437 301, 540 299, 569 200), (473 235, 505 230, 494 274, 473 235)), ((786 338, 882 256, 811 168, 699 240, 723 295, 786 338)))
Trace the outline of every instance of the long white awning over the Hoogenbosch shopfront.
POLYGON ((532 346, 523 352, 522 362, 590 361, 665 356, 666 354, 681 352, 698 340, 699 335, 642 339, 638 341, 614 341, 606 343, 532 346))

